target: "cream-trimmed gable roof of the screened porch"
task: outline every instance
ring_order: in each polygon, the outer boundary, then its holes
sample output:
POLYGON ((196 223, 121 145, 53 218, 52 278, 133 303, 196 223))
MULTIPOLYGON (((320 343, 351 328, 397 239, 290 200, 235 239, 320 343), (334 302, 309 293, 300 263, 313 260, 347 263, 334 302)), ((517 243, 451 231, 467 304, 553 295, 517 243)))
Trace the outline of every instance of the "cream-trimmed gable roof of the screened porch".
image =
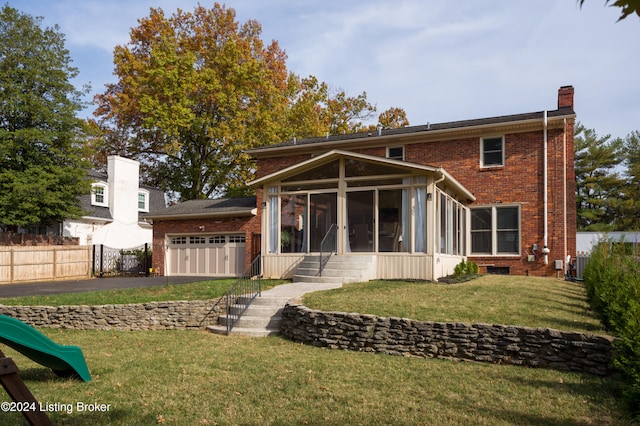
POLYGON ((281 180, 290 175, 293 175, 300 170, 308 169, 314 166, 320 166, 322 164, 331 162, 338 158, 348 158, 353 160, 366 161, 370 163, 376 164, 384 164, 388 166, 393 166, 397 168, 401 168, 407 170, 408 172, 428 172, 428 173, 436 173, 440 175, 440 178, 443 178, 447 183, 454 188, 454 190, 462 195, 464 195, 469 201, 475 201, 476 197, 469 192, 467 188, 465 188, 460 182, 458 182, 453 176, 451 176, 447 171, 445 171, 442 167, 434 167, 434 166, 426 166, 423 164, 410 163, 407 161, 393 160, 391 158, 378 157, 375 155, 368 154, 360 154, 350 151, 341 151, 334 149, 329 152, 325 152, 324 154, 318 155, 317 157, 312 157, 308 160, 305 160, 301 163, 294 164, 292 166, 286 167, 282 170, 278 170, 275 173, 271 173, 270 175, 263 176, 259 179, 255 179, 252 182, 249 182, 249 186, 260 186, 265 182, 273 181, 273 180, 281 180))

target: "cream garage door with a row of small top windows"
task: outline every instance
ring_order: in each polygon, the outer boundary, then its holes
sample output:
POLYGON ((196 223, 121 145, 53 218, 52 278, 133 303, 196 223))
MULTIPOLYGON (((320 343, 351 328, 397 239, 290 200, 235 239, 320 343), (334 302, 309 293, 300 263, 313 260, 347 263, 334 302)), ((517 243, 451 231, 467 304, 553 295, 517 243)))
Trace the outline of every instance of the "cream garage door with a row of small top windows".
POLYGON ((168 275, 240 276, 245 269, 245 245, 242 234, 169 237, 168 275))

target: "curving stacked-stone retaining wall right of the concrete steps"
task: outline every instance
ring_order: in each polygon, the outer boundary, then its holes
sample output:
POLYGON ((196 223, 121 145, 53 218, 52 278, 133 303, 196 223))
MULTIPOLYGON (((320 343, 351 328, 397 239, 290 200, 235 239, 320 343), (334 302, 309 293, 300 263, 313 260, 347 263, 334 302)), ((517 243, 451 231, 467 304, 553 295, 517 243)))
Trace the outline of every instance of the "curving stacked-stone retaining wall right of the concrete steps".
POLYGON ((323 312, 288 304, 281 333, 331 349, 450 358, 585 372, 612 373, 613 338, 490 324, 442 323, 323 312))

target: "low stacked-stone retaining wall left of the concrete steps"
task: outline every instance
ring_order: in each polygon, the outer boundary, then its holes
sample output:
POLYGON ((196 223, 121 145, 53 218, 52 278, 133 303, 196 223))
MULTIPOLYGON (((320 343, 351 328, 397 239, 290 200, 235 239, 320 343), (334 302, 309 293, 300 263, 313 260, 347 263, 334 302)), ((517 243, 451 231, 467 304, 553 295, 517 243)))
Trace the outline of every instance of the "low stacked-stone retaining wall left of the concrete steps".
POLYGON ((176 330, 217 324, 226 302, 218 299, 97 306, 6 306, 0 314, 34 327, 82 330, 176 330), (206 316, 206 319, 205 319, 206 316), (205 319, 203 321, 203 319, 205 319))

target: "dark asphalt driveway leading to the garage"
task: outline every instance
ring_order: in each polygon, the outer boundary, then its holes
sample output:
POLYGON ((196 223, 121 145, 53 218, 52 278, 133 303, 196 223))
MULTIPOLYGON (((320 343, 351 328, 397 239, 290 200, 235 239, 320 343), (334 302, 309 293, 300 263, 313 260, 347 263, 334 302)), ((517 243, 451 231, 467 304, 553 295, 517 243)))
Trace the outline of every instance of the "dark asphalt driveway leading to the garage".
POLYGON ((20 284, 0 284, 1 297, 34 296, 43 294, 80 293, 117 288, 149 287, 166 284, 185 284, 211 280, 203 277, 113 277, 71 281, 46 281, 20 284))

